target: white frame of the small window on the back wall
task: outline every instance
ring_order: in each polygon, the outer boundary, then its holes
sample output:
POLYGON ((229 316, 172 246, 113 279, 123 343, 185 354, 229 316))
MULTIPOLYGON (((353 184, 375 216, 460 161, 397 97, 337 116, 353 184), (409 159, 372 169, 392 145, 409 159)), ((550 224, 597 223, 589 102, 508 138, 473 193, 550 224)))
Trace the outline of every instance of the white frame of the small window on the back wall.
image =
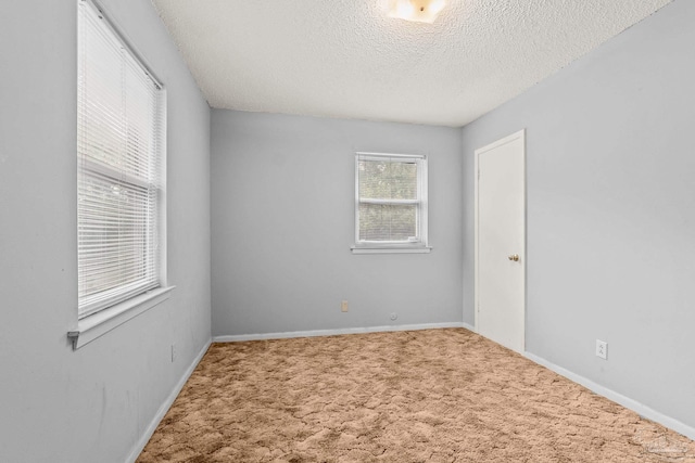
POLYGON ((406 254, 429 253, 431 246, 428 241, 428 157, 424 154, 396 154, 396 153, 355 153, 355 241, 351 247, 353 254, 406 254), (364 203, 359 197, 359 162, 391 159, 403 163, 415 162, 417 165, 417 198, 416 200, 388 200, 375 198, 371 204, 416 204, 416 236, 417 241, 366 241, 359 239, 359 205, 364 203))

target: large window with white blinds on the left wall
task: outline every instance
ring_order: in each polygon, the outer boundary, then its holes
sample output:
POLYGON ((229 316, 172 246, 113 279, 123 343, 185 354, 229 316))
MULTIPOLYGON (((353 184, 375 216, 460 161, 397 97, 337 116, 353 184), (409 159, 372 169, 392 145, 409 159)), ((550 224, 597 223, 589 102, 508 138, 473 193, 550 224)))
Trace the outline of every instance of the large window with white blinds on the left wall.
POLYGON ((78 318, 161 282, 165 97, 103 13, 78 3, 78 318))

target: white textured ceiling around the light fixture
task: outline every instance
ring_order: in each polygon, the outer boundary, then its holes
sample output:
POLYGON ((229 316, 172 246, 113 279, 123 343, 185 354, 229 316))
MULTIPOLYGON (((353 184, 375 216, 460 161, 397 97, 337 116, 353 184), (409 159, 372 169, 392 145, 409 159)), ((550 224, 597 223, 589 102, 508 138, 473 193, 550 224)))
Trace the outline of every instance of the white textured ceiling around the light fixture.
POLYGON ((671 0, 152 0, 212 107, 463 126, 671 0))

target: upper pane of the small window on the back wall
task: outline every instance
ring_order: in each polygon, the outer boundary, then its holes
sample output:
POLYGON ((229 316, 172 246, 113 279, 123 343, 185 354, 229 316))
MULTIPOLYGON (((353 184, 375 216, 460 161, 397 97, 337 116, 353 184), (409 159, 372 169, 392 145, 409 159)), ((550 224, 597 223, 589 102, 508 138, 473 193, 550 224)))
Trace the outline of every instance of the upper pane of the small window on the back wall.
POLYGON ((359 197, 417 200, 417 164, 414 162, 361 159, 359 197))

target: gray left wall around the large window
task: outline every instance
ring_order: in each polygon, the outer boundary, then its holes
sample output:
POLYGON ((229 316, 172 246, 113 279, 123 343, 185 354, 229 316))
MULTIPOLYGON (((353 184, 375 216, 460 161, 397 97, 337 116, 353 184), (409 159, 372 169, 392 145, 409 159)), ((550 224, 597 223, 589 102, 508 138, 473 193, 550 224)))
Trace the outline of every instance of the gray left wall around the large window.
POLYGON ((177 287, 72 350, 77 1, 0 2, 3 462, 123 462, 210 340, 210 108, 149 1, 102 3, 168 88, 168 270, 177 287))

